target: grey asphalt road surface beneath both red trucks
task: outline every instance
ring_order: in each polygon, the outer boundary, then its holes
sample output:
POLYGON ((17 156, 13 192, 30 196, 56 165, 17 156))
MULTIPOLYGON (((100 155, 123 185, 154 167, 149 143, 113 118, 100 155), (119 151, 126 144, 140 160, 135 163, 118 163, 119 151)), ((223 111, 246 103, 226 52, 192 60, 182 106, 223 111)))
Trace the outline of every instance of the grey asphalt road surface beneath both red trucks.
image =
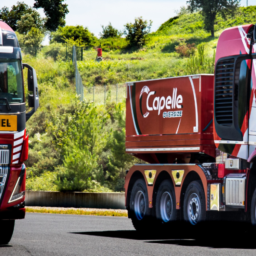
POLYGON ((216 237, 207 232, 206 241, 195 240, 185 231, 177 234, 175 230, 142 236, 125 217, 27 213, 24 220, 16 221, 12 240, 0 247, 0 256, 256 254, 255 239, 248 242, 248 236, 224 229, 218 233, 216 237))

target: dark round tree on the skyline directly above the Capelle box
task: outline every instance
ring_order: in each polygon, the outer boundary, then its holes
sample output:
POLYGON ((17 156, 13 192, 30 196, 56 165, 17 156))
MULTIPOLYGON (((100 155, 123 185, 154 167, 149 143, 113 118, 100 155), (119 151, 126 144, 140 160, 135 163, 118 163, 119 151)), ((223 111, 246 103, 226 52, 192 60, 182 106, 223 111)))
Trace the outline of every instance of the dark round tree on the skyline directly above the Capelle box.
POLYGON ((126 39, 130 46, 142 47, 146 43, 146 36, 150 32, 152 21, 143 20, 142 17, 135 18, 134 23, 125 24, 126 39))

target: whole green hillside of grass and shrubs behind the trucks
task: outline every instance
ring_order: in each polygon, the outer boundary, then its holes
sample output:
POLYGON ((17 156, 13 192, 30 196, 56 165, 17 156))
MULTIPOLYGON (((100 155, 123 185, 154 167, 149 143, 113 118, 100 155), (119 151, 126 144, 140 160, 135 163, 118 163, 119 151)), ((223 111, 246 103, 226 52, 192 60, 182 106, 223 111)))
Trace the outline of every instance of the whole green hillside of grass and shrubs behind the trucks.
MULTIPOLYGON (((220 33, 246 23, 256 23, 256 6, 241 7, 226 20, 218 17, 212 38, 199 13, 183 10, 152 32, 142 49, 129 48, 125 38, 102 40, 103 61, 95 61, 95 46, 78 62, 84 86, 212 73, 220 33), (205 61, 195 66, 198 55, 205 61)), ((23 58, 37 71, 40 93, 40 108, 27 122, 27 189, 123 191, 125 170, 139 162, 125 154, 125 103, 79 102, 72 63, 60 61, 64 47, 57 48, 52 44, 36 58, 23 58)))

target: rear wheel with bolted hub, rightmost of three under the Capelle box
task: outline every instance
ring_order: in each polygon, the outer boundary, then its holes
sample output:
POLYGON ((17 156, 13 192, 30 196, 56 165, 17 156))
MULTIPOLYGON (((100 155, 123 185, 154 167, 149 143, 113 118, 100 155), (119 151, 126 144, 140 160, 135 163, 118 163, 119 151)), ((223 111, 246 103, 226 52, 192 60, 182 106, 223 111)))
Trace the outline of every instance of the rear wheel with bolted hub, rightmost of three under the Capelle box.
POLYGON ((206 219, 204 189, 200 180, 192 181, 186 189, 183 215, 184 220, 192 225, 206 219))

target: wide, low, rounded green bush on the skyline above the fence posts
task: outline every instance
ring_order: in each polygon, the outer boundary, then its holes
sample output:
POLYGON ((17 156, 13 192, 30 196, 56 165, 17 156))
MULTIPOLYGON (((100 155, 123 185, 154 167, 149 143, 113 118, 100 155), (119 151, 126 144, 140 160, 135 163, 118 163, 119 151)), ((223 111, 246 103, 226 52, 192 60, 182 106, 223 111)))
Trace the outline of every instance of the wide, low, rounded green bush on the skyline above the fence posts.
POLYGON ((51 34, 51 42, 67 43, 70 42, 77 46, 91 46, 96 42, 96 37, 83 26, 64 26, 59 27, 56 32, 51 34))

